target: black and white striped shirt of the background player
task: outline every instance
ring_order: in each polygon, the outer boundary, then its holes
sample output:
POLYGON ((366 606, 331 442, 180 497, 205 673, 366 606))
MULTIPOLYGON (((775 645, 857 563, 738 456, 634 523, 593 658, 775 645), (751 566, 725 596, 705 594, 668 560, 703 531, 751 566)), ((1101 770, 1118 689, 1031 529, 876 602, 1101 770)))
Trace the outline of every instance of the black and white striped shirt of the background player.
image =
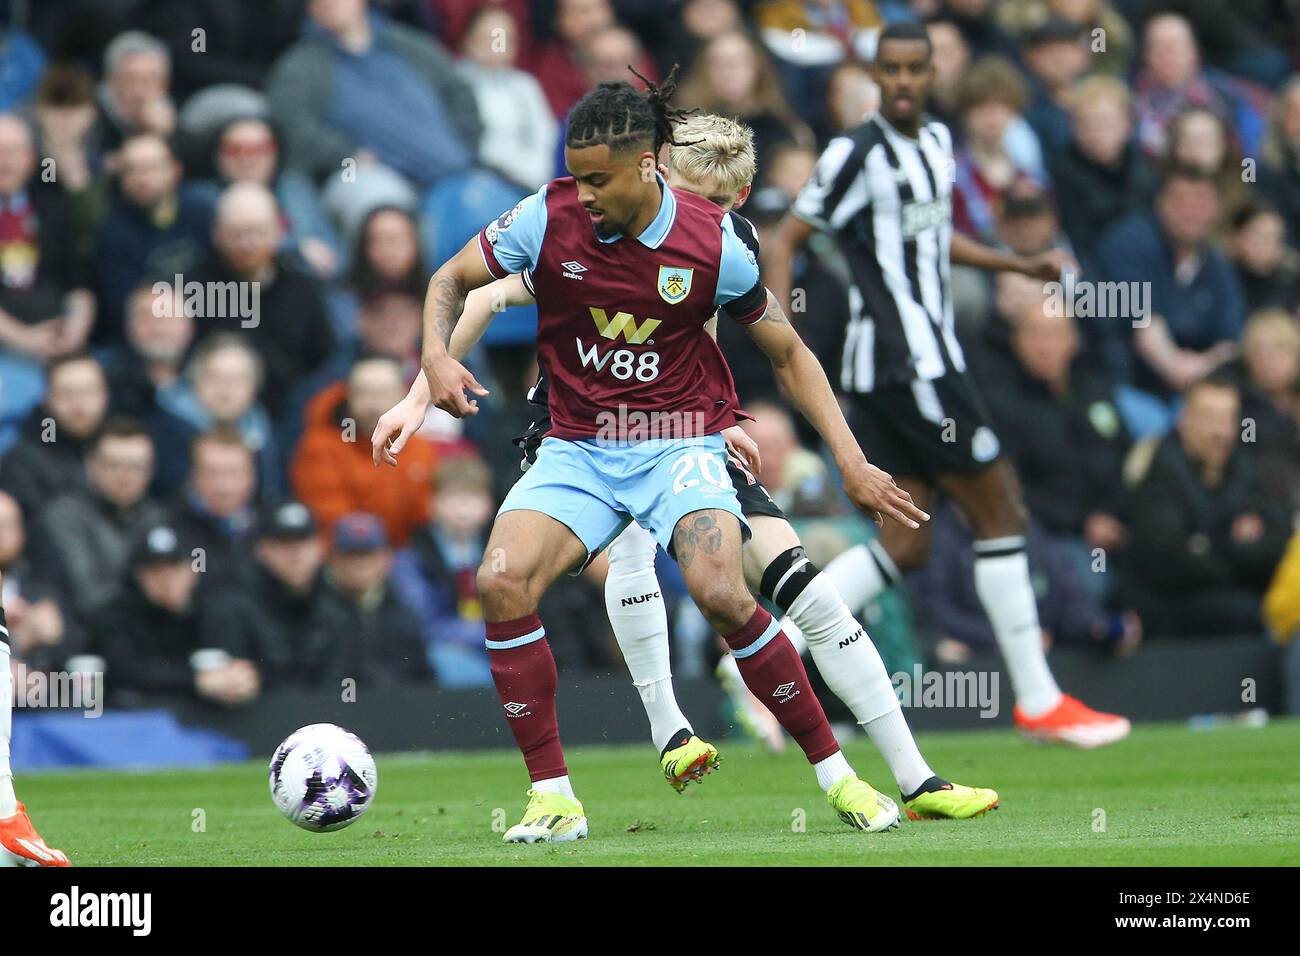
POLYGON ((953 330, 953 139, 926 117, 916 139, 879 113, 831 140, 794 215, 838 239, 852 273, 845 392, 963 371, 953 330))

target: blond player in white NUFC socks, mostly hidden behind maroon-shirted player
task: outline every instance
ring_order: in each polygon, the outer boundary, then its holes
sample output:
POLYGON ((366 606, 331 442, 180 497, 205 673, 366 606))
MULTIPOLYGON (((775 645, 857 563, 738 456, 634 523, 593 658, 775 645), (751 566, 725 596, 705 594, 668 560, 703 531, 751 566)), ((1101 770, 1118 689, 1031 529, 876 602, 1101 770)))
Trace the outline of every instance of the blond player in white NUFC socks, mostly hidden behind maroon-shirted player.
MULTIPOLYGON (((757 255, 754 229, 736 212, 748 199, 755 174, 751 131, 722 116, 693 114, 673 126, 673 135, 679 144, 668 151, 668 185, 705 196, 727 212, 736 234, 757 255)), ((463 358, 473 347, 491 320, 493 304, 499 308, 533 302, 528 281, 525 272, 471 293, 451 337, 451 354, 463 358)), ((780 306, 770 299, 768 308, 775 313, 780 306)), ((720 375, 729 380, 729 372, 720 375)), ((417 378, 412 385, 415 397, 408 395, 394 407, 389 412, 390 421, 381 424, 380 431, 403 425, 417 428, 428 407, 428 399, 420 394, 422 388, 422 378, 417 378)), ((534 459, 550 428, 546 392, 543 375, 529 394, 529 401, 541 407, 538 420, 521 440, 525 467, 534 459)), ((733 403, 738 405, 734 399, 733 403)), ((723 434, 731 438, 734 432, 740 434, 729 441, 736 451, 728 455, 727 468, 737 489, 741 512, 753 531, 744 545, 746 584, 788 614, 797 632, 807 639, 812 661, 827 684, 850 708, 889 763, 907 816, 914 819, 968 818, 996 806, 994 791, 949 783, 930 769, 898 706, 879 652, 870 640, 859 640, 866 636, 862 624, 829 579, 803 554, 784 512, 753 476, 751 467, 757 470, 757 462, 744 460, 745 455, 757 453, 757 447, 745 445, 751 445, 751 440, 737 425, 723 434)), ((672 689, 668 620, 654 571, 654 536, 638 524, 629 524, 606 554, 604 597, 610 623, 650 719, 664 777, 681 792, 689 780, 701 779, 716 766, 718 750, 692 731, 672 689)), ((731 656, 725 663, 736 667, 731 656)), ((738 672, 734 679, 741 680, 738 672)))

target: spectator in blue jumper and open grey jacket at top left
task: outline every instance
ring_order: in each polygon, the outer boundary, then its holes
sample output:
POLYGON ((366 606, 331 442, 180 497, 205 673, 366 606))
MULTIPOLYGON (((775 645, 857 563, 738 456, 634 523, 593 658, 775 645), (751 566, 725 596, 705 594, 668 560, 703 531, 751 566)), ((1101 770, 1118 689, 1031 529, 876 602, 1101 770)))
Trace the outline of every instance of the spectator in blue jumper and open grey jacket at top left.
POLYGON ((317 179, 378 161, 429 186, 473 163, 473 92, 437 40, 368 7, 311 0, 302 39, 276 61, 266 95, 286 159, 317 179))

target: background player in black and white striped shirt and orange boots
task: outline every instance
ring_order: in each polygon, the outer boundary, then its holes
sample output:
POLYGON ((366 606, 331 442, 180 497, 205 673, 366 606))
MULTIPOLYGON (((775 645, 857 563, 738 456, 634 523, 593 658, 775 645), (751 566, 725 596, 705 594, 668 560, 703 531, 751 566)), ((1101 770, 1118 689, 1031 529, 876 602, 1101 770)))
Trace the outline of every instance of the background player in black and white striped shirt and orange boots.
MULTIPOLYGON (((1058 251, 1004 255, 953 230, 952 135, 924 113, 931 53, 919 23, 880 34, 871 66, 880 109, 827 146, 764 245, 764 273, 788 307, 798 248, 816 229, 836 238, 852 272, 840 384, 859 444, 922 507, 949 496, 975 533, 975 588, 1010 674, 1015 726, 1040 740, 1101 747, 1124 737, 1128 721, 1062 693, 1048 667, 1024 554, 1027 512, 966 375, 949 285, 949 261, 1043 281, 1074 264, 1058 251)), ((924 564, 928 545, 928 529, 901 535, 887 524, 826 571, 859 609, 924 564)))

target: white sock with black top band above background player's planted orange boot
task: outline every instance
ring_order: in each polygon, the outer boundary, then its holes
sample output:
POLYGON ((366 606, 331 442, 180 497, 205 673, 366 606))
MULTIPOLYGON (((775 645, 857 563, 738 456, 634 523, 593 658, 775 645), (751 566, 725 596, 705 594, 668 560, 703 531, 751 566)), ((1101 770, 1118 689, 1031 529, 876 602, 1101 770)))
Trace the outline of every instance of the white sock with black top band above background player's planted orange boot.
POLYGON ((1045 714, 1061 702, 1061 688, 1043 650, 1023 537, 975 542, 975 592, 1002 649, 1015 702, 1028 717, 1045 714))

